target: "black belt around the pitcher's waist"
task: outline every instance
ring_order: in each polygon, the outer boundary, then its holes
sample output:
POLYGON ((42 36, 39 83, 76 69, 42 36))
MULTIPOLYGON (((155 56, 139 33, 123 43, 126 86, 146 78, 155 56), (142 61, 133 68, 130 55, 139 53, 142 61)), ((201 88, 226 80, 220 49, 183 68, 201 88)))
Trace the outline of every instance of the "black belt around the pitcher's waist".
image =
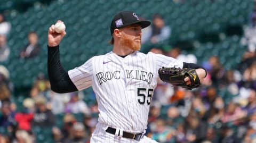
MULTIPOLYGON (((111 134, 116 134, 116 129, 108 127, 106 132, 111 133, 111 134)), ((118 136, 119 136, 119 133, 120 132, 118 132, 118 136)), ((133 133, 130 133, 130 132, 124 132, 123 131, 123 136, 122 137, 133 139, 133 140, 140 140, 143 136, 144 136, 143 133, 135 133, 135 134, 133 134, 133 133)))

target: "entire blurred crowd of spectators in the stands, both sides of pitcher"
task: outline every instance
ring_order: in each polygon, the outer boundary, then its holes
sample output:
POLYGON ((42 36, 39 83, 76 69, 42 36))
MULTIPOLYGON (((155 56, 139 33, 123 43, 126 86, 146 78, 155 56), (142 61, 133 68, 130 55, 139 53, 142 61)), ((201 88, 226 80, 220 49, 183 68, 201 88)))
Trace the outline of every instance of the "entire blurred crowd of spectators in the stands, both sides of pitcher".
MULTIPOLYGON (((154 14, 152 21, 151 27, 143 29, 142 44, 171 38, 171 26, 165 24, 162 15, 154 14)), ((241 43, 248 49, 237 69, 226 70, 213 55, 200 63, 208 73, 199 88, 185 90, 158 81, 148 117, 148 137, 163 143, 256 142, 255 22, 256 7, 244 30, 241 43)), ((6 38, 10 30, 10 23, 0 14, 0 61, 8 60, 10 54, 6 38)), ((28 31, 28 43, 21 45, 20 58, 39 54, 38 38, 36 32, 28 31)), ((183 52, 182 47, 153 47, 150 52, 197 63, 196 56, 183 52)), ((89 142, 99 113, 95 101, 90 105, 86 102, 93 93, 57 94, 43 73, 38 73, 19 108, 13 92, 10 71, 0 65, 1 143, 39 142, 44 130, 49 134, 46 138, 54 142, 89 142)))

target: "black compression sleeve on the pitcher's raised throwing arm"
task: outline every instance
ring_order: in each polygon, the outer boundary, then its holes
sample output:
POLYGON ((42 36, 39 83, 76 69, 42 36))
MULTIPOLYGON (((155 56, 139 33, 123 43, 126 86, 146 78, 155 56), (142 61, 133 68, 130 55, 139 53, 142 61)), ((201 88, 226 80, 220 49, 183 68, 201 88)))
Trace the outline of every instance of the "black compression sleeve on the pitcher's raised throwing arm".
POLYGON ((51 89, 54 92, 66 93, 78 91, 60 63, 59 45, 55 47, 48 46, 47 68, 51 89))

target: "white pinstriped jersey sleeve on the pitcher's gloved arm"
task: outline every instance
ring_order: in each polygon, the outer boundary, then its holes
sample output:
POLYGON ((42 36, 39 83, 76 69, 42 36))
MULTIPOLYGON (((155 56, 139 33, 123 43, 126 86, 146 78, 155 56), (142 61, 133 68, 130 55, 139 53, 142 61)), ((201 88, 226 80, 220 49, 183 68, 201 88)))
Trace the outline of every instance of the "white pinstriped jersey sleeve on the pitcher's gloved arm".
POLYGON ((162 54, 156 54, 157 69, 164 67, 167 68, 182 68, 183 62, 176 60, 173 57, 165 56, 162 54))

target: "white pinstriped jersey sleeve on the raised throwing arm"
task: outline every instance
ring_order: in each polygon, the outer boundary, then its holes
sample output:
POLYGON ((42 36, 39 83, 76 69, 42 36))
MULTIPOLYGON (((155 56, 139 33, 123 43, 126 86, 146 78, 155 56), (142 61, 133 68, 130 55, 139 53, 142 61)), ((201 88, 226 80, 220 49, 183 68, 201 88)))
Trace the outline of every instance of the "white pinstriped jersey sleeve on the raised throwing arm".
POLYGON ((78 68, 68 71, 69 78, 78 90, 86 89, 92 85, 92 74, 92 58, 78 68))

